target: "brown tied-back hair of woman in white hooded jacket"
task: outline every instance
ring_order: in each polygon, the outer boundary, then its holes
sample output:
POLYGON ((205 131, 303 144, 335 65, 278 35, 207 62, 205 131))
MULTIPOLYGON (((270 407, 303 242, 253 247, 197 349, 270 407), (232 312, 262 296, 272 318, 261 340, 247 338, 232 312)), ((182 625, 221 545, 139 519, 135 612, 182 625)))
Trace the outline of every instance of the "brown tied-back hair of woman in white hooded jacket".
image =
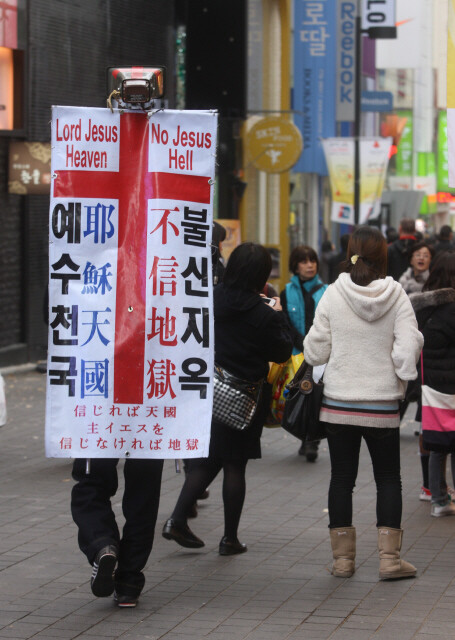
POLYGON ((361 287, 386 277, 387 242, 379 229, 362 225, 354 231, 341 271, 350 273, 352 282, 361 287))

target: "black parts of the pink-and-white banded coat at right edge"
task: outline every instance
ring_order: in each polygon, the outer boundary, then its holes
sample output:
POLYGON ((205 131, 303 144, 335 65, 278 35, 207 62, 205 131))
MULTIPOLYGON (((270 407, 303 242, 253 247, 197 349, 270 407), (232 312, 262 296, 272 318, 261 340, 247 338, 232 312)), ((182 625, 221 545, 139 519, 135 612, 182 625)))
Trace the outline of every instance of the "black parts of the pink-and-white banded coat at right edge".
MULTIPOLYGON (((455 289, 413 293, 409 299, 424 337, 423 381, 436 391, 455 394, 455 289)), ((416 385, 420 389, 420 361, 417 366, 419 377, 416 385)), ((421 419, 420 412, 416 419, 421 419)), ((442 443, 439 446, 438 443, 425 442, 424 446, 428 450, 447 451, 442 443)))

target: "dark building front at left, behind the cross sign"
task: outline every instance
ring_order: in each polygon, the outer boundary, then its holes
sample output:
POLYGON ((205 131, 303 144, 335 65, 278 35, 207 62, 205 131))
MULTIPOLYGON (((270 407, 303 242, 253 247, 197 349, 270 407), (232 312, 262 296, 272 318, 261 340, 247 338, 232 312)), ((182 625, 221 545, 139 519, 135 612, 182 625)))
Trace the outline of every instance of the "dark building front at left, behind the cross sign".
POLYGON ((47 352, 49 195, 8 192, 11 143, 49 142, 52 105, 105 106, 108 66, 165 65, 175 104, 173 2, 1 4, 0 367, 47 352))

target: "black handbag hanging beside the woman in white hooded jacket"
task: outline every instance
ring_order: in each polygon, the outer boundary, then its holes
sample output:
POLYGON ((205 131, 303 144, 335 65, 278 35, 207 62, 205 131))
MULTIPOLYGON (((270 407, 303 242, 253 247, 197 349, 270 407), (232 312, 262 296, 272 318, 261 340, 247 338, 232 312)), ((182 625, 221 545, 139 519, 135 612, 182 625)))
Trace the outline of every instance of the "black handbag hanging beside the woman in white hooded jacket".
POLYGON ((294 378, 286 385, 284 414, 281 426, 296 438, 305 441, 326 437, 319 421, 324 383, 313 380, 313 367, 303 361, 294 378))

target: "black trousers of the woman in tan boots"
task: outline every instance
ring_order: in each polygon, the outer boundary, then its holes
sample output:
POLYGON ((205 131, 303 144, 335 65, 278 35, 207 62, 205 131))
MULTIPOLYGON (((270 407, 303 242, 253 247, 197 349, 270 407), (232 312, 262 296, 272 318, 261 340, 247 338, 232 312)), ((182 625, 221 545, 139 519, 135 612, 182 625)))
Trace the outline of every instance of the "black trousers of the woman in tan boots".
POLYGON ((329 488, 330 528, 352 525, 352 492, 364 438, 376 481, 376 526, 401 527, 400 430, 326 423, 332 475, 329 488))

